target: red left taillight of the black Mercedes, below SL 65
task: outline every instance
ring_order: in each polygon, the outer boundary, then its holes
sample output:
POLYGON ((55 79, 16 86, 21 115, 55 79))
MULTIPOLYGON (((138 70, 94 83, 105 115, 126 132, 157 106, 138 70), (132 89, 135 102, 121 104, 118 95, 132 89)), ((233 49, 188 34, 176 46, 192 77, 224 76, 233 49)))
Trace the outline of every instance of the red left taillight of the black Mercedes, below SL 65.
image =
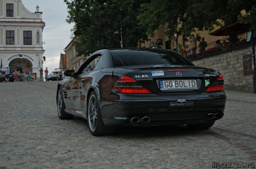
POLYGON ((138 81, 126 75, 121 76, 116 81, 115 85, 113 86, 113 90, 116 93, 152 94, 151 91, 140 85, 138 81))

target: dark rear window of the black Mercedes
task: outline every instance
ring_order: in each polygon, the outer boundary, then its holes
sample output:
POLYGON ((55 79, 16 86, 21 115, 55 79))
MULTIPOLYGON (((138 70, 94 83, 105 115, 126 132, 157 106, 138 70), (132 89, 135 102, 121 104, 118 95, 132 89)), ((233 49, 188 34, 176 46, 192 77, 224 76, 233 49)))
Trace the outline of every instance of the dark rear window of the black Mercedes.
POLYGON ((188 65, 182 56, 167 50, 111 50, 114 66, 188 65))

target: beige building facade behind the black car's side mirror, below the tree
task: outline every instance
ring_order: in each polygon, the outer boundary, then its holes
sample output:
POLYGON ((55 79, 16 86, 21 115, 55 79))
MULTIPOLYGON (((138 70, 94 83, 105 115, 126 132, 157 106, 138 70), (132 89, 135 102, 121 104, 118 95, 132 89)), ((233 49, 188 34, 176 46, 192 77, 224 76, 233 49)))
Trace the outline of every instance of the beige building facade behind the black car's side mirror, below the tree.
MULTIPOLYGON (((76 37, 73 38, 72 41, 68 44, 68 46, 64 49, 66 53, 66 66, 67 66, 66 69, 69 69, 69 70, 71 69, 76 70, 79 66, 81 66, 83 61, 86 59, 86 57, 77 57, 75 45, 73 43, 75 39, 76 37)), ((61 60, 62 58, 60 55, 60 62, 61 60)))

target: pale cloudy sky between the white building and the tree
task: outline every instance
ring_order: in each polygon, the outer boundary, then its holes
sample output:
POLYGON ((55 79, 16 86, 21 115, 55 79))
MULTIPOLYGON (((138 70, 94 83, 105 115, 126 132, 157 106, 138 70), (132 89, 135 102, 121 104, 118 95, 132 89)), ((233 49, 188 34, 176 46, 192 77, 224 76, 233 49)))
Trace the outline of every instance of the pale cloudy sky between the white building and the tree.
POLYGON ((31 13, 36 12, 37 5, 39 12, 42 12, 42 21, 46 23, 42 33, 46 57, 44 70, 47 67, 50 74, 54 69, 59 68, 60 53, 65 54, 63 49, 71 41, 71 29, 74 24, 66 21, 67 5, 63 0, 22 0, 22 3, 31 13))

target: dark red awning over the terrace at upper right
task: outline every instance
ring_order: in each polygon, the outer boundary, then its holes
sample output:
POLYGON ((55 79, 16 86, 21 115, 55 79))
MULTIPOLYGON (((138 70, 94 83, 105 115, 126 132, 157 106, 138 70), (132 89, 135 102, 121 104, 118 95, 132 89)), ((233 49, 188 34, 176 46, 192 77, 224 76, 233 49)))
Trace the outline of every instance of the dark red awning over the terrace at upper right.
POLYGON ((240 23, 240 21, 225 25, 220 29, 210 33, 212 36, 233 36, 249 32, 250 24, 240 23))

